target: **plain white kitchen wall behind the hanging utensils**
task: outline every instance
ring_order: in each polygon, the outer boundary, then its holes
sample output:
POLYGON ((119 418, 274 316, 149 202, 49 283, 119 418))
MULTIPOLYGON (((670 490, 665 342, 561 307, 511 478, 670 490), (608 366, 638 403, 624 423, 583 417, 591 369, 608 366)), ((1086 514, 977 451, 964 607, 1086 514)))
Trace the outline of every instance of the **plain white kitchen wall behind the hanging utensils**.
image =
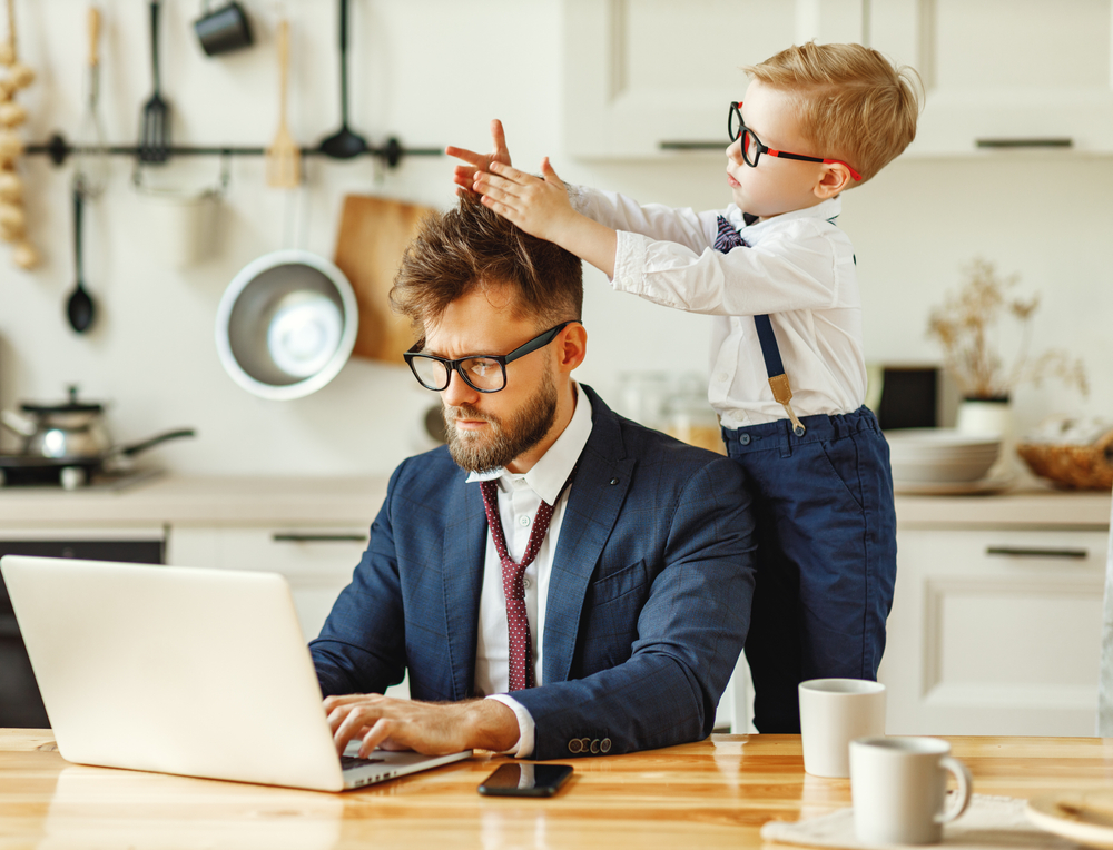
MULTIPOLYGON (((396 135, 414 147, 452 142, 486 149, 492 117, 506 125, 518 165, 550 155, 573 181, 642 200, 709 208, 728 199, 722 159, 693 155, 669 162, 588 164, 561 149, 560 4, 558 0, 351 0, 352 123, 381 142, 396 135)), ((336 4, 244 0, 257 43, 209 59, 194 40, 193 0, 165 0, 162 87, 179 144, 265 145, 277 121, 275 26, 293 21, 290 122, 312 144, 339 123, 336 4)), ((81 115, 86 0, 17 0, 23 60, 39 73, 20 96, 31 112, 27 139, 56 128, 72 136, 81 115)), ((102 106, 110 139, 137 136, 149 97, 147 3, 102 0, 102 106)), ((738 57, 731 65, 760 59, 738 57)), ((68 383, 111 403, 118 441, 174 426, 196 441, 157 449, 185 473, 385 473, 424 444, 418 419, 435 402, 402 368, 353 360, 321 392, 265 402, 223 372, 213 323, 224 287, 246 263, 282 247, 333 253, 343 196, 374 194, 433 206, 452 202, 452 162, 412 158, 392 171, 371 159, 314 158, 299 191, 268 189, 263 162, 232 167, 221 239, 215 256, 185 271, 152 248, 148 208, 130 186, 130 162, 114 161, 107 196, 87 211, 86 279, 100 320, 77 336, 63 317, 73 285, 70 168, 45 157, 21 166, 32 238, 43 255, 32 273, 16 269, 0 246, 0 403, 60 399, 68 383), (388 403, 384 403, 388 402, 388 403)), ((161 179, 215 182, 218 162, 171 165, 161 179)), ((845 198, 866 303, 870 359, 937 360, 925 337, 928 309, 961 281, 975 255, 1003 273, 1020 271, 1018 291, 1038 290, 1036 348, 1067 346, 1083 356, 1093 391, 1044 386, 1016 394, 1020 427, 1050 412, 1113 416, 1113 318, 1110 236, 1113 160, 1076 155, 995 155, 907 160, 845 198)), ((705 319, 615 295, 585 269, 584 322, 591 348, 581 379, 618 395, 617 376, 636 368, 705 369, 705 319)), ((11 441, 4 443, 11 446, 11 441)), ((155 459, 156 454, 150 455, 155 459)))

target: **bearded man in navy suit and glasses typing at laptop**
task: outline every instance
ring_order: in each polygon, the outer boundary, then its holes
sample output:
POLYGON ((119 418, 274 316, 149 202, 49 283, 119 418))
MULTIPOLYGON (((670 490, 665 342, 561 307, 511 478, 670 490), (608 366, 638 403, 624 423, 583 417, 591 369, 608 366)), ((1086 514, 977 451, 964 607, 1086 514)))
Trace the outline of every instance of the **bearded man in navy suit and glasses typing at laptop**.
POLYGON ((423 223, 391 297, 449 445, 394 472, 311 644, 337 748, 554 759, 705 738, 749 624, 742 473, 572 379, 580 261, 474 200, 423 223), (380 695, 405 671, 413 700, 380 695))

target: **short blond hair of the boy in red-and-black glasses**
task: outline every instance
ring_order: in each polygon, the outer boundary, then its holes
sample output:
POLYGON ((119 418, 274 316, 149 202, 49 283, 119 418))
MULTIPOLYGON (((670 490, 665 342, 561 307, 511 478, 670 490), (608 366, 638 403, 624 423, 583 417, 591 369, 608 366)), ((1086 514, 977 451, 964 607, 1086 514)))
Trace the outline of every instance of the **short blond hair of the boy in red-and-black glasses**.
POLYGON ((809 41, 742 70, 792 96, 804 137, 821 156, 849 162, 860 182, 916 137, 919 75, 871 48, 809 41))

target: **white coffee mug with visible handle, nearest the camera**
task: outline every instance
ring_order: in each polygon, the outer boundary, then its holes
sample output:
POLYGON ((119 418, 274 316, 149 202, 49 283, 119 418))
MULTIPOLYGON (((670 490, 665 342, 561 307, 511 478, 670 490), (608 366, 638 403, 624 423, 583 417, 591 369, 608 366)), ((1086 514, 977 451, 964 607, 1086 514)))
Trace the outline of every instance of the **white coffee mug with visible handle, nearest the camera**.
POLYGON ((943 824, 969 805, 974 780, 938 738, 861 738, 850 742, 850 797, 858 840, 937 844, 943 824), (944 810, 947 773, 958 782, 944 810))

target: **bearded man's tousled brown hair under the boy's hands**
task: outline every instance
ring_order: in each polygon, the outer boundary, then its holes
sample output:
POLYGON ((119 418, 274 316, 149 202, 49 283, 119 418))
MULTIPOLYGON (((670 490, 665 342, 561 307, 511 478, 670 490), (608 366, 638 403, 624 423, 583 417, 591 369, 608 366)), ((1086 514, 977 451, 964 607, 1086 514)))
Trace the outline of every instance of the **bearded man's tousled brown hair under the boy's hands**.
POLYGON ((466 195, 447 212, 422 219, 402 256, 391 305, 423 334, 454 300, 492 285, 510 286, 514 317, 532 317, 539 329, 581 318, 580 259, 466 195))

